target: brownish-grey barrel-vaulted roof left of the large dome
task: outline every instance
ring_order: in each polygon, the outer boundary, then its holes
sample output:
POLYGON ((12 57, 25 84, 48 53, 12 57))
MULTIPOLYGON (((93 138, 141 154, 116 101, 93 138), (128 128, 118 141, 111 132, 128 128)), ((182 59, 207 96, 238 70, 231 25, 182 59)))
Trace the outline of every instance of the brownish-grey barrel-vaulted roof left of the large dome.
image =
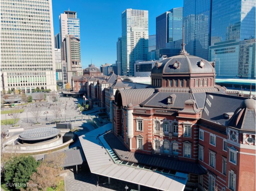
POLYGON ((141 89, 119 89, 116 91, 115 99, 121 96, 122 105, 127 106, 128 103, 132 103, 133 106, 139 105, 154 93, 153 88, 141 88, 141 89))

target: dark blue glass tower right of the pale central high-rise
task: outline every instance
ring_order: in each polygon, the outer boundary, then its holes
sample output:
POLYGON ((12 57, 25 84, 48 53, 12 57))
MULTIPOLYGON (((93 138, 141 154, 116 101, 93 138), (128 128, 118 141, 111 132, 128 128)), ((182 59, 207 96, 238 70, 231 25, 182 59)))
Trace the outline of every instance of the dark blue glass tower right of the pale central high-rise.
POLYGON ((182 39, 183 7, 173 8, 156 17, 156 50, 182 39))

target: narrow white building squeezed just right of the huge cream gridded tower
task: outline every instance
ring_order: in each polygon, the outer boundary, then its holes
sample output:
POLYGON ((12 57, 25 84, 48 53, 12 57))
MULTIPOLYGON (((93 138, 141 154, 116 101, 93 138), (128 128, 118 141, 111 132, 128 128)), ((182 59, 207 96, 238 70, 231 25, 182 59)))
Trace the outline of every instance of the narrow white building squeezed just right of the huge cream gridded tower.
MULTIPOLYGON (((65 64, 65 62, 61 60, 61 50, 54 49, 54 51, 55 51, 56 83, 57 83, 57 86, 59 86, 59 88, 64 88, 66 83, 64 83, 65 69, 63 68, 63 64, 65 64)), ((65 82, 66 81, 67 79, 65 79, 65 82)))

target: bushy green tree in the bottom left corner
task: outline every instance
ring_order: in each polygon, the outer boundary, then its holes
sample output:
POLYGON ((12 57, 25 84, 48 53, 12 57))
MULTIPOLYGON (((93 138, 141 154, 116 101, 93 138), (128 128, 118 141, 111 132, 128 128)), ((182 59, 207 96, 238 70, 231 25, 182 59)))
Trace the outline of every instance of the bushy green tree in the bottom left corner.
POLYGON ((24 187, 29 181, 31 174, 36 172, 40 163, 34 157, 17 156, 4 165, 4 181, 17 184, 16 189, 24 187))

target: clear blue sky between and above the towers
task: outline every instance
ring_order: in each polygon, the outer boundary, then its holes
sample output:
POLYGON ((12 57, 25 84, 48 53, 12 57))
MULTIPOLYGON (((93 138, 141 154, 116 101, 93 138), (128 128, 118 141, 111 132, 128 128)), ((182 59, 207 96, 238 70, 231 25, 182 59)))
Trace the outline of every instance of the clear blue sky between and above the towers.
POLYGON ((156 16, 183 0, 52 0, 54 35, 59 32, 59 15, 65 10, 77 11, 80 19, 82 66, 116 62, 116 41, 121 36, 121 14, 125 9, 148 10, 149 35, 156 34, 156 16))

